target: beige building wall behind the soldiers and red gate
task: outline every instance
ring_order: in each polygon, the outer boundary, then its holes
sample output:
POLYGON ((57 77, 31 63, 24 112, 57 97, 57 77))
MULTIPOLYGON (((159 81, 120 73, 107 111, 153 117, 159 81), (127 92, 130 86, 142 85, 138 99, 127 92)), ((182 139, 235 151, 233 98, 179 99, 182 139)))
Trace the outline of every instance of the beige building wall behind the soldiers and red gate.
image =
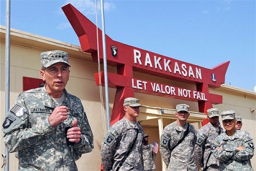
MULTIPOLYGON (((1 26, 1 84, 0 84, 0 112, 1 112, 1 129, 4 122, 5 110, 5 28, 1 26)), ((99 86, 96 86, 94 73, 98 72, 98 64, 92 62, 90 54, 81 52, 79 46, 67 44, 58 40, 36 36, 31 33, 11 29, 11 66, 10 66, 10 107, 14 104, 19 93, 23 90, 23 76, 31 78, 41 78, 40 69, 40 54, 48 50, 63 50, 68 52, 70 57, 70 79, 66 89, 69 93, 76 95, 82 100, 85 112, 89 119, 91 129, 94 135, 94 150, 91 153, 82 155, 76 162, 78 170, 99 170, 101 165, 100 148, 102 139, 106 132, 106 118, 102 116, 102 110, 106 113, 105 105, 102 106, 100 100, 99 86)), ((101 65, 101 70, 103 67, 101 65)), ((116 72, 115 67, 108 67, 108 72, 116 72)), ((159 79, 154 76, 145 75, 143 73, 134 73, 134 78, 155 81, 158 83, 168 84, 176 87, 186 87, 190 90, 195 90, 195 85, 184 84, 167 79, 159 79)), ((103 89, 103 100, 105 101, 105 92, 103 89)), ((116 89, 109 88, 109 106, 110 114, 113 108, 113 102, 116 89)), ((231 86, 222 85, 218 89, 210 89, 211 93, 221 95, 223 103, 220 105, 213 105, 219 108, 220 112, 223 110, 235 110, 239 116, 243 117, 242 130, 248 131, 255 143, 256 140, 256 114, 251 112, 256 108, 256 93, 246 91, 231 86)), ((159 142, 159 135, 161 135, 161 127, 175 121, 174 111, 175 105, 186 103, 190 106, 191 115, 189 122, 192 123, 196 129, 201 127, 201 121, 205 115, 197 113, 197 102, 184 101, 172 98, 157 97, 152 95, 145 95, 135 93, 135 97, 140 99, 142 105, 141 113, 138 118, 143 126, 143 129, 149 134, 149 142, 159 142)), ((4 143, 2 140, 3 133, 1 131, 1 154, 4 154, 4 143)), ((253 157, 252 165, 256 169, 255 157, 253 157)), ((162 169, 161 156, 159 152, 156 159, 156 170, 162 169)), ((3 165, 1 158, 0 165, 3 165)), ((13 153, 10 153, 10 170, 18 169, 18 159, 13 153)), ((1 168, 1 170, 4 170, 1 168)))

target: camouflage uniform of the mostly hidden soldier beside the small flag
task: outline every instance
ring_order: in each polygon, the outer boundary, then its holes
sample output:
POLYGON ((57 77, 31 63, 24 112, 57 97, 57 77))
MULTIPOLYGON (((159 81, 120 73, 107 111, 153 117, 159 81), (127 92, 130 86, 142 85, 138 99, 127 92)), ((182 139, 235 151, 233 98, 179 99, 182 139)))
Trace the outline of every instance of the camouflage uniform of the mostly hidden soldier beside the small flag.
POLYGON ((156 153, 153 151, 153 144, 142 145, 144 170, 154 170, 156 168, 154 161, 156 153))

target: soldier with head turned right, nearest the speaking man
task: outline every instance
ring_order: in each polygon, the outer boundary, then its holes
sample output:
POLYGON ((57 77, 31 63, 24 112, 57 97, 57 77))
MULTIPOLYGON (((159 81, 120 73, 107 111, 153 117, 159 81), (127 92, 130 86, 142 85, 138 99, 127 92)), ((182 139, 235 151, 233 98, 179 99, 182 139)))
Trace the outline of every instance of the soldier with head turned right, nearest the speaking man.
POLYGON ((143 171, 142 139, 144 132, 136 122, 140 104, 136 98, 124 99, 125 116, 110 127, 101 146, 103 169, 143 171))

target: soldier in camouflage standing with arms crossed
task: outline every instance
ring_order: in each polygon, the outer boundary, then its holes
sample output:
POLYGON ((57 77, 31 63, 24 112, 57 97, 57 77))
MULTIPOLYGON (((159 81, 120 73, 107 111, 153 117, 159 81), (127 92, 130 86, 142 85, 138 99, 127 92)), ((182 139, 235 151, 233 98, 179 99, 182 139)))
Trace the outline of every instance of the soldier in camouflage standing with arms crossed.
POLYGON ((253 170, 250 159, 253 157, 254 143, 246 131, 236 130, 234 110, 221 113, 226 129, 213 141, 212 153, 220 161, 220 170, 253 170))

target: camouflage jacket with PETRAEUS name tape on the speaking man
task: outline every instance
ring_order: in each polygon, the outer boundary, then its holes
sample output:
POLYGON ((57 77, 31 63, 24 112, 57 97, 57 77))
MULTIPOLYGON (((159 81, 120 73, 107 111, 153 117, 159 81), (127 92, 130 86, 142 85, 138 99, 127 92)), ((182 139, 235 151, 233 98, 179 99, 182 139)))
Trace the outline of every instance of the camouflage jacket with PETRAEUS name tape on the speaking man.
POLYGON ((75 160, 93 149, 93 135, 81 101, 66 90, 63 106, 68 118, 52 127, 48 117, 57 104, 45 87, 22 92, 6 115, 3 140, 10 152, 18 151, 20 170, 77 170, 75 160), (65 127, 77 119, 81 141, 67 146, 65 127))

